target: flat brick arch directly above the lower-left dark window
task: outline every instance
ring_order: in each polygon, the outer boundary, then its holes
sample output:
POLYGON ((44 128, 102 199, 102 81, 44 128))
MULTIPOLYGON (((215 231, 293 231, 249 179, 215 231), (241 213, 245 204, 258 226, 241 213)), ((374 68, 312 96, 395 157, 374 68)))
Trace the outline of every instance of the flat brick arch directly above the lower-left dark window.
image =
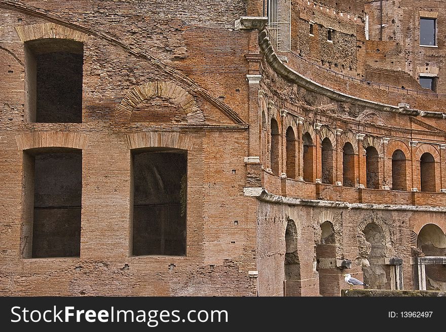
POLYGON ((16 136, 18 150, 39 147, 70 147, 87 149, 89 135, 66 131, 38 131, 16 136))

